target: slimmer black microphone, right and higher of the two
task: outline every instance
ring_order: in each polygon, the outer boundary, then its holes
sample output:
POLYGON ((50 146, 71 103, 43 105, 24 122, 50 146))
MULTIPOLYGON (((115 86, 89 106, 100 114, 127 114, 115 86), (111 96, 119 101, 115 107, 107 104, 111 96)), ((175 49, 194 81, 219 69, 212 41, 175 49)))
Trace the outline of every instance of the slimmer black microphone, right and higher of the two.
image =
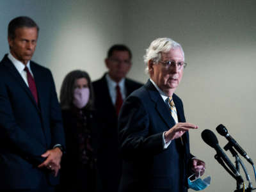
POLYGON ((222 125, 222 124, 218 125, 218 127, 216 127, 216 131, 220 135, 225 136, 225 138, 227 138, 229 143, 232 146, 234 146, 234 148, 236 148, 237 152, 239 152, 239 154, 241 154, 241 156, 243 156, 250 164, 253 164, 252 159, 246 154, 246 152, 243 150, 243 148, 240 147, 240 145, 238 145, 236 140, 234 140, 232 138, 232 136, 230 136, 230 134, 228 134, 228 130, 227 130, 227 128, 224 125, 222 125))

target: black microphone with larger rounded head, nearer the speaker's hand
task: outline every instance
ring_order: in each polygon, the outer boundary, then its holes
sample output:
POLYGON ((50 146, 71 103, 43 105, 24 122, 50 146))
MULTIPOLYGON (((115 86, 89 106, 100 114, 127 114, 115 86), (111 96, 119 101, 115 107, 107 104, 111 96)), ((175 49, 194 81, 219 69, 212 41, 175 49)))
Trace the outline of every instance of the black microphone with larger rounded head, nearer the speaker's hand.
POLYGON ((205 141, 205 143, 207 143, 207 145, 210 145, 212 148, 214 148, 216 150, 218 156, 220 156, 223 159, 223 161, 225 161, 225 163, 230 168, 230 170, 232 170, 232 172, 236 175, 237 181, 242 183, 243 179, 242 179, 240 173, 237 172, 234 164, 231 163, 230 159, 227 157, 225 152, 223 152, 223 150, 221 149, 221 147, 219 145, 219 141, 216 138, 216 135, 214 134, 214 132, 212 132, 209 129, 205 129, 202 132, 201 136, 202 136, 202 139, 205 141))

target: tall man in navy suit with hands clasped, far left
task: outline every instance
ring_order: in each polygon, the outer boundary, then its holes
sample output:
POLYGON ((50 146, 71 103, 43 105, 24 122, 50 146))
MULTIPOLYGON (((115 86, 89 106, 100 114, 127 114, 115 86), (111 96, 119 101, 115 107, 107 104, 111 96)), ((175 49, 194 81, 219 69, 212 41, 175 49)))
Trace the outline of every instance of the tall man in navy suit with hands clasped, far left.
POLYGON ((17 17, 0 63, 0 189, 54 191, 65 147, 51 71, 33 61, 38 26, 17 17))

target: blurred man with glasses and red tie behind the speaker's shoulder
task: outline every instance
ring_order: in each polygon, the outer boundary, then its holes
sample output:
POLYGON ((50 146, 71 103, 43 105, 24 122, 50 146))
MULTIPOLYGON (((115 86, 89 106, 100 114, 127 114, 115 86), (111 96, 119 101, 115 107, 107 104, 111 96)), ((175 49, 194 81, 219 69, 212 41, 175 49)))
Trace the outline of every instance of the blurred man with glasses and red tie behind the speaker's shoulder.
POLYGON ((126 77, 132 53, 125 45, 113 45, 105 60, 108 73, 93 82, 95 108, 102 122, 98 164, 103 191, 117 191, 121 174, 118 156, 117 117, 124 99, 142 84, 126 77))

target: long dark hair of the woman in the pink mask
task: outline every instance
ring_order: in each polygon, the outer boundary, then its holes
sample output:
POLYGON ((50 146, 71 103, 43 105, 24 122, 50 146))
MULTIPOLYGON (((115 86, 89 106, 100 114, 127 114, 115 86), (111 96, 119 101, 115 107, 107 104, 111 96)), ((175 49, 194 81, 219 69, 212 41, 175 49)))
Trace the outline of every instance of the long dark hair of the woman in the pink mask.
POLYGON ((77 79, 85 78, 88 81, 88 88, 90 90, 89 101, 85 109, 93 109, 94 94, 92 88, 92 81, 87 72, 83 70, 73 70, 65 76, 60 90, 60 106, 61 109, 70 109, 73 104, 75 83, 77 79))

